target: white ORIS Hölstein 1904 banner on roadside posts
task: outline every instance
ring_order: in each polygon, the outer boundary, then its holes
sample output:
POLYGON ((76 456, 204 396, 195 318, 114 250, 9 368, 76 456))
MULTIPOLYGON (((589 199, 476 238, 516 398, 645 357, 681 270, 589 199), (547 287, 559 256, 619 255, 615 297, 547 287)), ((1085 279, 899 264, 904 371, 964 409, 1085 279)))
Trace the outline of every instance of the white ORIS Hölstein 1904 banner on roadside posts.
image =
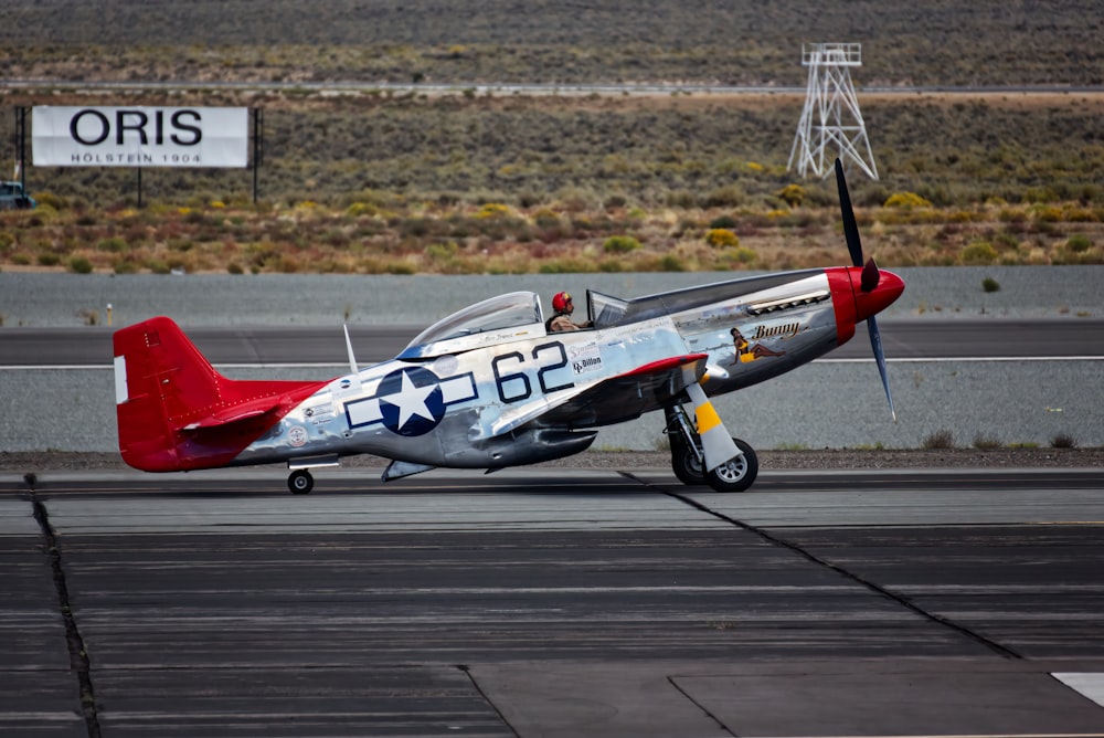
POLYGON ((248 108, 52 107, 31 118, 38 167, 245 167, 248 108))

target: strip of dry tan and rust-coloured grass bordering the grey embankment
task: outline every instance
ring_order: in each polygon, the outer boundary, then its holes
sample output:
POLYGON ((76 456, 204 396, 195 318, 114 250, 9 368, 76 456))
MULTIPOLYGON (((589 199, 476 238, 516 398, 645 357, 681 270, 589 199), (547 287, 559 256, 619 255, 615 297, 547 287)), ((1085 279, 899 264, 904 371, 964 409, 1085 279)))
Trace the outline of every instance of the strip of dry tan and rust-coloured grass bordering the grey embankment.
MULTIPOLYGON (((94 271, 116 273, 648 272, 802 268, 840 263, 846 254, 834 208, 499 207, 502 212, 488 215, 486 204, 464 203, 106 211, 47 204, 0 214, 0 265, 77 271, 76 264, 87 262, 94 271), (724 229, 732 238, 716 236, 711 225, 719 219, 733 223, 724 229), (620 235, 640 247, 612 247, 620 235)), ((868 252, 884 266, 1104 262, 1098 218, 1073 223, 1047 220, 1048 213, 988 207, 957 221, 956 212, 920 217, 878 208, 860 212, 860 226, 868 252), (1009 220, 1010 213, 1016 218, 1009 220), (1094 245, 1071 250, 1071 229, 1083 236, 1074 243, 1094 245)))

